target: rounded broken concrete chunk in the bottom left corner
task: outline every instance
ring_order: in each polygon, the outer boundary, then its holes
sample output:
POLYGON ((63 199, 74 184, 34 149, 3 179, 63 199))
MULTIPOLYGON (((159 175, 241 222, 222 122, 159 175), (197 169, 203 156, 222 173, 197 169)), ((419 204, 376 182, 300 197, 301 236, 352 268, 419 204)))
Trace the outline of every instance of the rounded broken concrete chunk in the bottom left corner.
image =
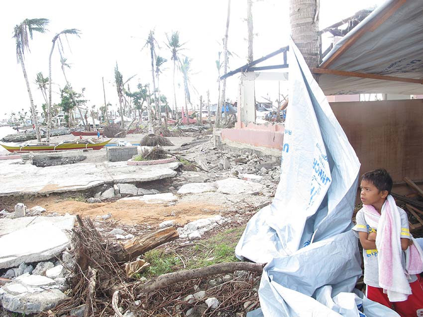
POLYGON ((55 307, 66 298, 52 279, 29 275, 17 277, 0 289, 0 302, 4 309, 20 314, 36 314, 55 307))

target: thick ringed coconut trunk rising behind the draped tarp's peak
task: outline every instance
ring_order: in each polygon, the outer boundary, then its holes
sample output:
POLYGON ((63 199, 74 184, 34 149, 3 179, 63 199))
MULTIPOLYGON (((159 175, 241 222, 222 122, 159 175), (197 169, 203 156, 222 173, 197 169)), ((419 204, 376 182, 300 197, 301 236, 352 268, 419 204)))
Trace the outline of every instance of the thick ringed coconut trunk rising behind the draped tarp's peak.
POLYGON ((318 11, 319 0, 290 0, 291 36, 310 68, 319 64, 318 11))

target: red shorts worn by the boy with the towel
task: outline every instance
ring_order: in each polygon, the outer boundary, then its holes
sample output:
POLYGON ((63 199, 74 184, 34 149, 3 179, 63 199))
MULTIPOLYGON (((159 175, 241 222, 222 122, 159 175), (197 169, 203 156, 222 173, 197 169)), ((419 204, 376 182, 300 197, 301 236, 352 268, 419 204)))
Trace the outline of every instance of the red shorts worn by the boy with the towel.
POLYGON ((395 310, 401 317, 423 317, 423 288, 419 280, 410 283, 412 294, 404 302, 391 303, 388 295, 379 287, 366 286, 369 300, 395 310))

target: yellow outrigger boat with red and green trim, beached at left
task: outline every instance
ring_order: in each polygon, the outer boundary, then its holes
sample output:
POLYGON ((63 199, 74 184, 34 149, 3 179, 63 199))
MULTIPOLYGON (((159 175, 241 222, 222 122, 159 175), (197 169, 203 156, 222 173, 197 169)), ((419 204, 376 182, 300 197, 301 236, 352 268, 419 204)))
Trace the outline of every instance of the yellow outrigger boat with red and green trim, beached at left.
POLYGON ((24 143, 17 146, 1 146, 7 151, 13 152, 31 152, 31 151, 63 151, 63 150, 100 150, 103 149, 111 139, 105 142, 94 143, 76 143, 76 142, 61 142, 61 143, 24 143))

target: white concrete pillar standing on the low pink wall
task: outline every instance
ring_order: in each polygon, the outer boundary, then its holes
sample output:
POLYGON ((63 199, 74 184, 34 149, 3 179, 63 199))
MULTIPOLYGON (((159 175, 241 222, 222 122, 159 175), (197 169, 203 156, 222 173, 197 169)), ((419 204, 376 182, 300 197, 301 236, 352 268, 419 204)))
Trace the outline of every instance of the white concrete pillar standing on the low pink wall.
POLYGON ((256 121, 255 90, 254 79, 256 75, 253 72, 244 73, 240 77, 239 95, 238 95, 238 119, 240 122, 256 121))

